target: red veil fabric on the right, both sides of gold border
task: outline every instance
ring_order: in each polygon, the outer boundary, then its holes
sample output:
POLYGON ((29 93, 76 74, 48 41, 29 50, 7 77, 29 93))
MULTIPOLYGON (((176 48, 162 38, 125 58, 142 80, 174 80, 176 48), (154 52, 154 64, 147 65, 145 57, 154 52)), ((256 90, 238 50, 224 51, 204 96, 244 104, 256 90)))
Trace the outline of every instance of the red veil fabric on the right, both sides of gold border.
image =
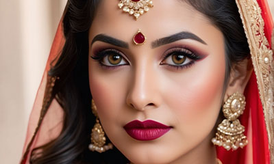
MULTIPOLYGON (((271 34, 273 30, 273 19, 271 17, 271 12, 266 0, 257 0, 260 9, 262 10, 262 18, 264 20, 264 36, 266 37, 269 45, 271 46, 271 34)), ((247 4, 248 5, 248 4, 247 4)), ((258 9, 257 9, 258 10, 258 9)), ((269 47, 271 48, 271 47, 269 47)), ((274 72, 271 72, 273 74, 274 72)), ((273 91, 273 88, 272 88, 273 91)), ((264 119, 264 110, 262 107, 262 102, 260 99, 260 94, 258 91, 258 82, 256 79, 256 74, 253 72, 249 83, 245 88, 245 96, 247 100, 247 105, 244 113, 240 118, 240 122, 245 126, 245 135, 249 143, 243 149, 238 149, 236 151, 227 150, 218 147, 217 154, 219 159, 223 164, 228 163, 274 163, 274 159, 271 162, 271 152, 268 133, 266 131, 266 120, 264 119)), ((269 109, 267 112, 271 112, 269 109)), ((271 134, 273 135, 273 134, 271 134)), ((273 152, 272 152, 273 153, 273 152)), ((273 156, 272 156, 273 158, 273 156)))

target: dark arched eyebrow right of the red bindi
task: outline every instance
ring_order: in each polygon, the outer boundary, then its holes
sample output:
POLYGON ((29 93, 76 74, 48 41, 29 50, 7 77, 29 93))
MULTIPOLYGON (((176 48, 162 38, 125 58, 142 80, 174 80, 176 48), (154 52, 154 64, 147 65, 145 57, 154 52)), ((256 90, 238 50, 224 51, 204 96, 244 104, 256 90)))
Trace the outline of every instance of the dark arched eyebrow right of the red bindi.
MULTIPOLYGON (((201 38, 196 36, 194 33, 190 33, 188 31, 182 31, 179 33, 175 33, 172 36, 167 36, 165 38, 160 38, 158 40, 153 41, 151 43, 151 47, 152 47, 152 49, 155 49, 158 46, 163 46, 164 44, 169 44, 172 42, 176 42, 177 40, 183 40, 183 39, 192 39, 192 40, 201 42, 202 44, 206 44, 205 41, 203 41, 201 38)), ((206 44, 206 45, 208 45, 208 44, 206 44)))

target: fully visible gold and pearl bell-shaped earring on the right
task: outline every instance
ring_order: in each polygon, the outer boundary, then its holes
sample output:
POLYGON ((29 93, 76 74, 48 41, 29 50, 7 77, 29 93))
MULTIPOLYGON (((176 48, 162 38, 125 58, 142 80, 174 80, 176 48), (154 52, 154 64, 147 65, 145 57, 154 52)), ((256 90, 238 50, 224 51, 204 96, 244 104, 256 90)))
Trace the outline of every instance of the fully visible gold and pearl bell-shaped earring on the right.
POLYGON ((219 124, 216 137, 212 139, 214 145, 223 146, 226 150, 236 150, 247 145, 247 137, 243 134, 245 126, 238 120, 245 110, 245 103, 245 96, 238 92, 229 96, 223 105, 223 114, 227 119, 219 124))

